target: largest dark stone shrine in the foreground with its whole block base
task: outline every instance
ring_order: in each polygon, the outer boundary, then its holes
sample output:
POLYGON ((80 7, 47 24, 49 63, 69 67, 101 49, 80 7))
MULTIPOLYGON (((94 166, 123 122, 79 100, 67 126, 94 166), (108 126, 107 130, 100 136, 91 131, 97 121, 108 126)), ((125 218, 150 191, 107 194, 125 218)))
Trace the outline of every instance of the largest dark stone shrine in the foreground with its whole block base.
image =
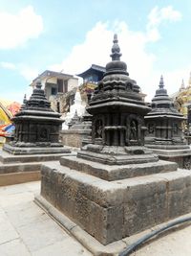
POLYGON ((191 211, 191 173, 143 146, 150 108, 120 56, 115 35, 112 61, 87 108, 92 144, 43 165, 35 198, 94 255, 117 255, 125 237, 191 211))

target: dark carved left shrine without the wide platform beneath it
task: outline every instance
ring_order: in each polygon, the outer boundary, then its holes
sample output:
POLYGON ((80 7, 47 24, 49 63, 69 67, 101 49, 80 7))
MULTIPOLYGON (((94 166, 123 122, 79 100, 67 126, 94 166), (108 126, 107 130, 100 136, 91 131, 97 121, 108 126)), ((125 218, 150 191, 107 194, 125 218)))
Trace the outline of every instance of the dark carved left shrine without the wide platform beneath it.
POLYGON ((4 145, 4 151, 12 154, 68 151, 58 142, 59 129, 63 122, 61 115, 53 111, 41 86, 38 81, 30 100, 25 99, 21 111, 12 118, 15 126, 14 139, 4 145))

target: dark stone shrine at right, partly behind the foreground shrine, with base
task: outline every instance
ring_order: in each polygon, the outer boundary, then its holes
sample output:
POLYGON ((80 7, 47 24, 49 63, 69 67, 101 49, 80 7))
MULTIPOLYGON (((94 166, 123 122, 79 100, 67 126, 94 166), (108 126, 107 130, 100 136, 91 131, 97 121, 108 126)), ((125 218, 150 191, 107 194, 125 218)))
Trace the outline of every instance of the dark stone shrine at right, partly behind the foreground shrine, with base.
POLYGON ((181 126, 184 117, 169 98, 162 76, 151 107, 145 116, 145 146, 157 153, 159 158, 176 161, 180 168, 190 169, 191 150, 186 145, 181 126))

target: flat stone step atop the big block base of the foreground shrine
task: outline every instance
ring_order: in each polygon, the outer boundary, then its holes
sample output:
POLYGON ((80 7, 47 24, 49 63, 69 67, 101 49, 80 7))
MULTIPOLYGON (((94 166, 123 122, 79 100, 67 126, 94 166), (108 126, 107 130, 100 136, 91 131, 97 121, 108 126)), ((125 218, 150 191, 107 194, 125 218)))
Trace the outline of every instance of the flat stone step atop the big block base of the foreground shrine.
POLYGON ((134 176, 152 175, 177 170, 177 163, 159 160, 143 164, 105 165, 75 156, 63 156, 60 164, 88 175, 95 175, 105 180, 118 180, 134 176))

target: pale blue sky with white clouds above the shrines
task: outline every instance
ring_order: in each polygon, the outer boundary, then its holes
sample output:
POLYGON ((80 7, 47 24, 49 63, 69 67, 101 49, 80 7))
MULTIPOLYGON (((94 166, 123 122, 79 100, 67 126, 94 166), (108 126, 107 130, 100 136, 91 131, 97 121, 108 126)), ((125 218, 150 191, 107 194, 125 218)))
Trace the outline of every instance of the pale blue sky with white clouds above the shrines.
POLYGON ((111 60, 117 34, 131 79, 150 101, 191 71, 190 0, 0 0, 0 99, 22 103, 46 69, 76 75, 111 60))

